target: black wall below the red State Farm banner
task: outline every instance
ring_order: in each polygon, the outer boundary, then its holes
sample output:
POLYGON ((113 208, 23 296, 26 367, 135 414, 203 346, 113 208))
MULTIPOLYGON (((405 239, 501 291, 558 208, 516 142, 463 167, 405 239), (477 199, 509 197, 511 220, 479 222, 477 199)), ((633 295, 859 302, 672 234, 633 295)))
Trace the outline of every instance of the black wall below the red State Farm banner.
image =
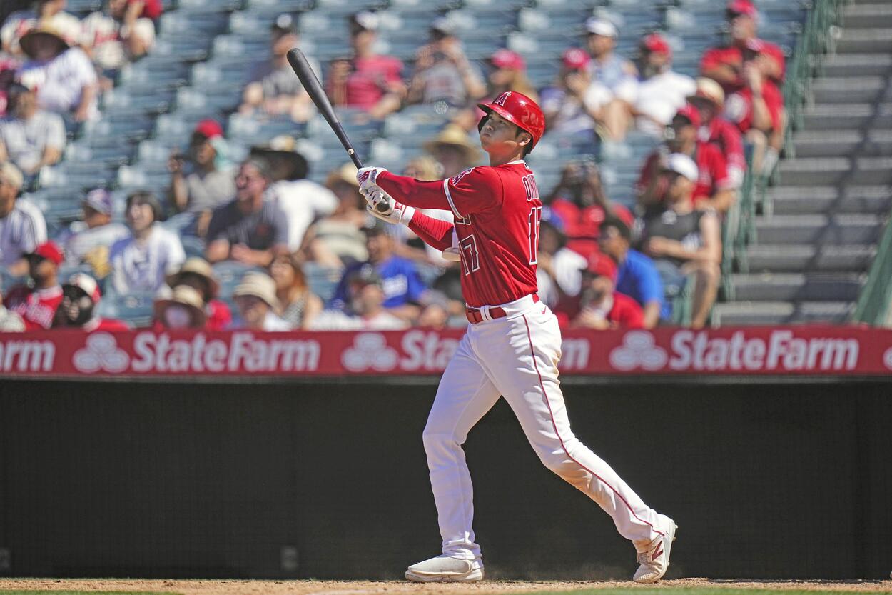
MULTIPOLYGON (((576 435, 679 524, 669 577, 882 578, 889 381, 573 381, 576 435)), ((440 549, 430 382, 0 380, 0 574, 401 578, 440 549)), ((471 432, 491 577, 628 579, 632 545, 500 403, 471 432)))

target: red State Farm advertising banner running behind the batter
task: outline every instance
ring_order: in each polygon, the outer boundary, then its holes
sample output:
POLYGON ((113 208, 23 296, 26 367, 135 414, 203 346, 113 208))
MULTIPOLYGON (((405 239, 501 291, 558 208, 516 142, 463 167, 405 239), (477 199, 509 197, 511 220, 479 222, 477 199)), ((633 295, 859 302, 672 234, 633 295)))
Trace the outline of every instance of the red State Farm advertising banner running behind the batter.
MULTIPOLYGON (((463 331, 0 333, 0 375, 343 376, 442 373, 463 331)), ((892 331, 844 326, 566 331, 576 375, 892 372, 892 331)))

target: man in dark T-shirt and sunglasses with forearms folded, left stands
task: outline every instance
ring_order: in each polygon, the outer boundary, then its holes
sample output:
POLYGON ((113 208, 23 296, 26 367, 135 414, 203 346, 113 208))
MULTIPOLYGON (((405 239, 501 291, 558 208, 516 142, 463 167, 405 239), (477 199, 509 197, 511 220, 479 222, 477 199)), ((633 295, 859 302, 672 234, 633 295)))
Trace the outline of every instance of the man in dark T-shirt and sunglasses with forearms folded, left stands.
POLYGON ((268 266, 288 249, 288 222, 267 200, 269 164, 259 157, 244 161, 235 177, 235 199, 214 210, 208 225, 208 262, 235 260, 268 266))

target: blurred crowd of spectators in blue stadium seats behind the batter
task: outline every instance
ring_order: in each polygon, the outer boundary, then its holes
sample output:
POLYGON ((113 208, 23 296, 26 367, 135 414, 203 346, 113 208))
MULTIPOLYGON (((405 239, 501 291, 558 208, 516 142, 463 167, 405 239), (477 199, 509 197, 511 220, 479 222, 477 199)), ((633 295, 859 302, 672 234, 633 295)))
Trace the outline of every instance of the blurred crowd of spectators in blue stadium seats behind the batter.
MULTIPOLYGON (((365 162, 420 180, 485 164, 478 101, 537 99, 541 299, 569 328, 703 327, 741 186, 783 148, 786 56, 750 0, 681 4, 37 0, 0 15, 0 328, 467 324, 458 264, 365 213, 294 46, 365 162)), ((786 26, 802 14, 760 4, 786 26)))

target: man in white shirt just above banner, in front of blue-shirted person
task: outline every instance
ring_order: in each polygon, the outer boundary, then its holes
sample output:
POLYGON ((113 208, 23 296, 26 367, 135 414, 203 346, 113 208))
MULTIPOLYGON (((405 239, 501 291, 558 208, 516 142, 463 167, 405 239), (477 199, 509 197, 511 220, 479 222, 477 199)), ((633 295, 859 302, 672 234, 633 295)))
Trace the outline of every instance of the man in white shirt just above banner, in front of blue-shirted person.
POLYGON ((363 264, 347 278, 348 309, 325 310, 313 319, 314 331, 399 331, 403 321, 384 309, 381 275, 373 264, 363 264))

